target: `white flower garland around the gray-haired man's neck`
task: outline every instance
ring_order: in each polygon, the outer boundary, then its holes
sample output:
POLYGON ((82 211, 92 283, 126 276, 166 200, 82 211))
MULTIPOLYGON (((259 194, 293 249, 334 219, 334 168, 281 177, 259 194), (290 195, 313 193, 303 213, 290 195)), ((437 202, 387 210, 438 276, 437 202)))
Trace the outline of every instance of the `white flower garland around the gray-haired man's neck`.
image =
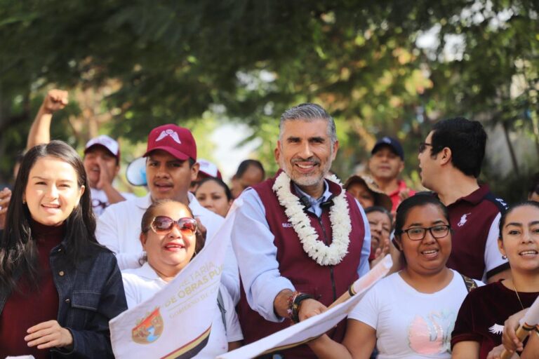
MULTIPOLYGON (((332 182, 342 184, 335 175, 329 177, 332 182)), ((329 212, 333 241, 327 246, 323 241, 318 241, 317 231, 311 226, 307 214, 303 210, 300 198, 290 191, 290 177, 285 172, 275 179, 272 189, 279 198, 279 203, 285 208, 286 217, 293 226, 295 233, 303 245, 303 250, 321 266, 334 266, 342 261, 348 253, 352 222, 344 189, 333 198, 333 206, 329 212)))

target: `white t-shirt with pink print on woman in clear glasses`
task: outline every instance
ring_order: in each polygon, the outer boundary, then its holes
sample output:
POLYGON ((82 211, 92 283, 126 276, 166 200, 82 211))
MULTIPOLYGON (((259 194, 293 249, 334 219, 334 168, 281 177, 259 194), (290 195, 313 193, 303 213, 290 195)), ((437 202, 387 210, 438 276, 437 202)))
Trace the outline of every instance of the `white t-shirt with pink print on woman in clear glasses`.
POLYGON ((467 294, 457 271, 432 294, 418 292, 393 273, 371 288, 348 318, 376 330, 378 359, 451 358, 451 332, 467 294))

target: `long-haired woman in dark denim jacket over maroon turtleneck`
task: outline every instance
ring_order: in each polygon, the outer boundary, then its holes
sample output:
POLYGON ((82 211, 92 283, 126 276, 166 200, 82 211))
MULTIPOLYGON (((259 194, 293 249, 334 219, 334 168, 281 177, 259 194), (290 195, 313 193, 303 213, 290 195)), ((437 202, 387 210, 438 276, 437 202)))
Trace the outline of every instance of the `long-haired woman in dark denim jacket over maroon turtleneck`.
POLYGON ((113 358, 127 309, 116 258, 95 240, 86 172, 61 141, 22 160, 0 240, 0 358, 113 358))

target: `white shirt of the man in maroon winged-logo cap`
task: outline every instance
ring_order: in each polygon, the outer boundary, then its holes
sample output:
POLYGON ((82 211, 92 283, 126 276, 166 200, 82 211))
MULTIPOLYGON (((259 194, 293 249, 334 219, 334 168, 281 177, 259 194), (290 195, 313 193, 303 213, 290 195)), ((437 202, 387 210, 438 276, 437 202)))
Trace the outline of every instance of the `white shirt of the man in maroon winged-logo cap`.
MULTIPOLYGON (((206 227, 206 245, 210 245, 211 238, 225 219, 202 207, 193 194, 188 193, 187 196, 189 209, 206 227)), ((142 215, 151 204, 152 198, 147 194, 144 197, 114 203, 98 218, 95 237, 98 238, 99 243, 114 252, 120 270, 140 267, 139 260, 142 257, 140 222, 142 215)), ((221 281, 227 287, 234 303, 237 303, 239 301, 239 271, 232 243, 227 250, 221 281)))

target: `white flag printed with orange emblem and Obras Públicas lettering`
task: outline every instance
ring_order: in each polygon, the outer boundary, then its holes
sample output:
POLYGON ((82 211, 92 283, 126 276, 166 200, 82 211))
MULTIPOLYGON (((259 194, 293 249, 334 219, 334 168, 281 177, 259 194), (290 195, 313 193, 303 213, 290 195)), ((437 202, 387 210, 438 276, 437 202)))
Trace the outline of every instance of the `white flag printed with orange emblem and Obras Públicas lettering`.
POLYGON ((116 358, 192 358, 208 342, 236 201, 204 249, 166 287, 110 320, 116 358))

